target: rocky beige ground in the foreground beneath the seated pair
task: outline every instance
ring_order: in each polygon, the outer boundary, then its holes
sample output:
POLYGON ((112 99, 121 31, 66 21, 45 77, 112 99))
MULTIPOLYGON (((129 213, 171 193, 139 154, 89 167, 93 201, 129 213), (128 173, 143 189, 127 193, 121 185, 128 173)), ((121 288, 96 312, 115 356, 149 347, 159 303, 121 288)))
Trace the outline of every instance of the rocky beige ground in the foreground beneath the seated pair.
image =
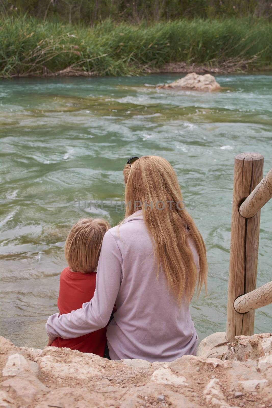
POLYGON ((171 363, 20 348, 0 337, 0 407, 272 407, 272 335, 230 344, 224 336, 207 337, 197 357, 171 363))

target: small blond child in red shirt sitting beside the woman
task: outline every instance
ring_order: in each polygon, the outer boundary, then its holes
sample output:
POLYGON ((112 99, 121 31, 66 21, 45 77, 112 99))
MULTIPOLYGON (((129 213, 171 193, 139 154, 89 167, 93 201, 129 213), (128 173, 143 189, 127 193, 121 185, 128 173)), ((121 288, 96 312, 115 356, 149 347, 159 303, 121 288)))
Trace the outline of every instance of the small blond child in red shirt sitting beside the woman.
MULTIPOLYGON (((68 267, 60 275, 57 307, 60 314, 70 313, 89 302, 95 291, 95 270, 102 239, 110 224, 102 218, 85 218, 75 223, 65 242, 68 267)), ((75 339, 57 337, 51 346, 68 347, 82 353, 104 356, 106 327, 75 339)))

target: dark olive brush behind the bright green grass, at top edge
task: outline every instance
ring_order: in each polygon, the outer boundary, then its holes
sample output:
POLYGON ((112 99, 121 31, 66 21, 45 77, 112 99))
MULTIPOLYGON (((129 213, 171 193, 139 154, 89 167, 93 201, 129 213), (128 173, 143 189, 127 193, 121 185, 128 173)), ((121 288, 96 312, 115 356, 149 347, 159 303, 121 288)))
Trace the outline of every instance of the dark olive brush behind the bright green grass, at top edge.
POLYGON ((111 18, 139 24, 181 18, 272 18, 271 0, 0 0, 0 15, 93 26, 111 18))

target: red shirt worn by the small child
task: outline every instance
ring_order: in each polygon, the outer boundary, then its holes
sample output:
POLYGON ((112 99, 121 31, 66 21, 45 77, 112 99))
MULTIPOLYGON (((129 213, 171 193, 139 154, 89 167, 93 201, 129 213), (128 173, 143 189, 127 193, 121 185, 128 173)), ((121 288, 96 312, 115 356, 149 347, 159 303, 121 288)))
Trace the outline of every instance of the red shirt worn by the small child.
MULTIPOLYGON (((62 271, 60 293, 57 299, 57 307, 61 315, 80 309, 83 303, 90 302, 95 291, 95 279, 95 272, 71 272, 69 266, 62 271)), ((106 327, 74 339, 57 337, 51 346, 68 347, 82 353, 93 353, 103 357, 106 346, 106 327)))

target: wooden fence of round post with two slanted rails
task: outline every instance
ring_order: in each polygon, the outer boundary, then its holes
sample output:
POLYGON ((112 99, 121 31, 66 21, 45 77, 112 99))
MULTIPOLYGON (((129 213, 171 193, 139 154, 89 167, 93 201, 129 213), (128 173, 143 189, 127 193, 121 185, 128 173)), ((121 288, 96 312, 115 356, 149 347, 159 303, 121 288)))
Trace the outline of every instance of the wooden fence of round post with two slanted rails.
POLYGON ((226 339, 254 333, 254 309, 272 303, 272 282, 256 289, 261 208, 272 197, 272 169, 263 178, 263 156, 234 159, 230 274, 226 339))

